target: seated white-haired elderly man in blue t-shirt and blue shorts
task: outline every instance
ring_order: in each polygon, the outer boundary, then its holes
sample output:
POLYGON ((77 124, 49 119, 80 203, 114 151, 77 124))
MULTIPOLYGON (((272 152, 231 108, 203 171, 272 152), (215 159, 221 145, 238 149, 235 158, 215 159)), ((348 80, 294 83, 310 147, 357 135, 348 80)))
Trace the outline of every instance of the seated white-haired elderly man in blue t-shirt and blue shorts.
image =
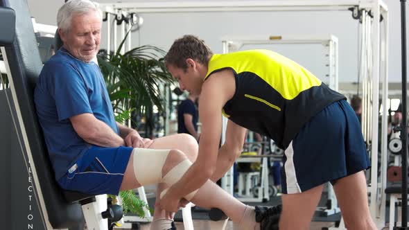
MULTIPOLYGON (((101 13, 91 1, 71 0, 60 8, 57 19, 64 45, 44 64, 35 88, 55 179, 64 189, 91 194, 159 184, 159 195, 195 161, 197 142, 187 134, 143 139, 136 130, 116 123, 103 76, 92 61, 100 44, 101 13)), ((268 224, 268 218, 257 223, 253 207, 211 181, 184 199, 222 209, 243 229, 268 224)), ((157 206, 151 229, 173 229, 171 222, 157 206)))

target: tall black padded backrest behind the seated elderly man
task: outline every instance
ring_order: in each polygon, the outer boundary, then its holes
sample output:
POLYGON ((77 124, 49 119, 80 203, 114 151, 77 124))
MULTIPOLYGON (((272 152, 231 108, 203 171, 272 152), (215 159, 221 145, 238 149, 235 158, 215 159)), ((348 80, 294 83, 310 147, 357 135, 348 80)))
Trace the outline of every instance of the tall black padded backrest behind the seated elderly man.
MULTIPOLYGON (((34 87, 40 71, 42 62, 37 48, 37 42, 28 10, 26 0, 0 0, 0 8, 12 8, 15 10, 15 37, 14 42, 5 46, 3 57, 7 57, 10 64, 10 74, 17 95, 17 107, 21 113, 24 133, 28 139, 29 150, 24 149, 27 154, 31 153, 35 167, 36 176, 40 184, 34 184, 40 188, 37 197, 44 199, 45 206, 40 206, 40 211, 46 212, 48 220, 53 229, 83 229, 84 215, 79 200, 93 197, 94 195, 82 194, 72 191, 63 191, 55 181, 53 167, 46 150, 44 136, 34 106, 34 87), (41 194, 40 194, 41 193, 41 194)), ((38 202, 41 204, 41 202, 38 202)))

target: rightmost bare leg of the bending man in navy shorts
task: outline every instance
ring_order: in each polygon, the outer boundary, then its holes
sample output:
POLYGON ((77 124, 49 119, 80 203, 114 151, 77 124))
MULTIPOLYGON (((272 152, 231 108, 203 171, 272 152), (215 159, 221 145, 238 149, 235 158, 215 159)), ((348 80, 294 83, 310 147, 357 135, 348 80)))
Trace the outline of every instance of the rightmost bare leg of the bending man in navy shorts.
POLYGON ((338 179, 333 190, 347 229, 376 229, 369 212, 367 184, 363 171, 338 179))

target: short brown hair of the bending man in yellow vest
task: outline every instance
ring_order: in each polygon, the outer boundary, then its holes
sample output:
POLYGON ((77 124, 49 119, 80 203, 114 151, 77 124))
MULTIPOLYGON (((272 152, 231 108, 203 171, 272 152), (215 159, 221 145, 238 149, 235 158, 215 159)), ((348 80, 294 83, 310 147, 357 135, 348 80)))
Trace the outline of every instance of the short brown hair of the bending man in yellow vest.
POLYGON ((173 65, 186 71, 186 59, 191 58, 207 67, 211 55, 213 52, 201 39, 195 35, 184 35, 173 42, 165 56, 165 63, 166 67, 173 65))

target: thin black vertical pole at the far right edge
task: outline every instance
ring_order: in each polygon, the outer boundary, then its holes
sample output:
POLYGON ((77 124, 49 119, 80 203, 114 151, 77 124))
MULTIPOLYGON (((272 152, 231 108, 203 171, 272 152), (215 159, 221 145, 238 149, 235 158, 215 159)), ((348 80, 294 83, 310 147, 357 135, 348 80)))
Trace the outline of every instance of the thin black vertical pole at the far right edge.
POLYGON ((408 129, 406 111, 406 0, 401 0, 401 44, 402 44, 402 124, 401 139, 402 148, 402 227, 408 228, 408 129))

